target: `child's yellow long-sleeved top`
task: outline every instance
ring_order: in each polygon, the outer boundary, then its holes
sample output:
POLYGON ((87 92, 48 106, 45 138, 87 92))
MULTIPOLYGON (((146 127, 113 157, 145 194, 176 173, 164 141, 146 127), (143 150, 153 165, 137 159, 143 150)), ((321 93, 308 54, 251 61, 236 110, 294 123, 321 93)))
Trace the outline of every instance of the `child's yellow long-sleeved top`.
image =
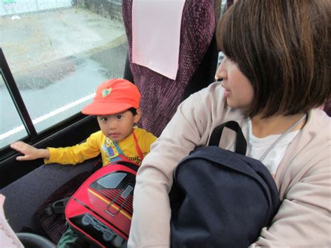
MULTIPOLYGON (((149 153, 150 147, 156 140, 156 137, 145 129, 135 128, 133 130, 142 155, 145 157, 149 153)), ((97 131, 96 133, 92 133, 84 143, 79 145, 59 148, 47 147, 50 151, 50 159, 45 159, 45 163, 76 164, 86 159, 94 158, 101 153, 103 166, 105 166, 110 162, 110 158, 116 155, 110 147, 111 143, 112 140, 106 138, 101 131, 97 131)), ((135 140, 132 133, 117 143, 117 145, 128 159, 140 165, 141 159, 135 149, 135 140)))

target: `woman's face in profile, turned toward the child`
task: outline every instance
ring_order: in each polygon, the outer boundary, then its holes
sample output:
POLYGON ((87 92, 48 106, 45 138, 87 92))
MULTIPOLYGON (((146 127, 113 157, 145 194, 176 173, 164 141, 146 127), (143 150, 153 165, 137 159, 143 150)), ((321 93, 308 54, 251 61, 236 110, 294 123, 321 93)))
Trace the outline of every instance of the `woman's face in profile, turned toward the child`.
POLYGON ((216 71, 217 78, 223 78, 224 96, 231 108, 247 109, 253 100, 253 86, 240 71, 235 62, 224 57, 216 71))

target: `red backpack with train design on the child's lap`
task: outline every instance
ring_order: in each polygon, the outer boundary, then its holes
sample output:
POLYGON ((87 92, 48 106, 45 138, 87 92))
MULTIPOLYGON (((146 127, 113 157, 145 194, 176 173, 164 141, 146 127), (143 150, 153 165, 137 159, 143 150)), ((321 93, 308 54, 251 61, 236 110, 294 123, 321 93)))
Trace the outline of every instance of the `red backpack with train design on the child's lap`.
POLYGON ((122 159, 92 174, 66 205, 71 228, 101 247, 121 247, 128 240, 139 166, 122 159))

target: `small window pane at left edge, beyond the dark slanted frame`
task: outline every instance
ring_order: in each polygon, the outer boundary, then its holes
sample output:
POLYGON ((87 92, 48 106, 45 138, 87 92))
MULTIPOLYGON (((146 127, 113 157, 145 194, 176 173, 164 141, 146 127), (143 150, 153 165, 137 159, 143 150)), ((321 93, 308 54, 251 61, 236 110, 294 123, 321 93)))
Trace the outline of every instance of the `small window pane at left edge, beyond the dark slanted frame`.
POLYGON ((3 75, 0 76, 0 149, 27 136, 20 116, 7 91, 3 75))

